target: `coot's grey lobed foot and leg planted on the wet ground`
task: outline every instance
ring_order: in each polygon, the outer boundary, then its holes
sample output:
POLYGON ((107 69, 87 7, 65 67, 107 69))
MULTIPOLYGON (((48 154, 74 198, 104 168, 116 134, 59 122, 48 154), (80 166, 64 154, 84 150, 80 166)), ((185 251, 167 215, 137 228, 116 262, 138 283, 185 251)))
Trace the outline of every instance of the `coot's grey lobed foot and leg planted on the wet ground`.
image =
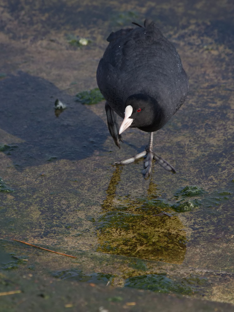
POLYGON ((133 163, 135 160, 141 157, 144 157, 145 155, 146 155, 146 158, 144 160, 144 169, 142 170, 142 174, 145 179, 148 178, 151 173, 153 158, 154 160, 158 161, 158 163, 164 169, 168 171, 172 171, 173 173, 176 173, 175 169, 165 159, 163 159, 162 157, 160 157, 158 154, 156 154, 153 151, 153 132, 150 133, 149 145, 143 152, 133 157, 118 161, 115 163, 115 165, 126 165, 128 163, 133 163))

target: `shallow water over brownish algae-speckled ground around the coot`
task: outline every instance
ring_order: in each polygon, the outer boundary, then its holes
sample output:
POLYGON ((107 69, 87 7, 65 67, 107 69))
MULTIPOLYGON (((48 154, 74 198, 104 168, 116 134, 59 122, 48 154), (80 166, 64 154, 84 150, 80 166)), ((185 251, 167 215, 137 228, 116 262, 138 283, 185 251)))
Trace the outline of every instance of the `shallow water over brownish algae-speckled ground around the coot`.
POLYGON ((3 1, 0 10, 1 274, 68 272, 94 284, 101 275, 154 291, 160 279, 167 293, 234 304, 234 5, 3 1), (148 135, 128 129, 118 150, 104 102, 75 101, 96 87, 109 33, 144 17, 175 44, 189 77, 186 102, 154 135, 177 173, 155 163, 148 180, 142 160, 112 165, 148 135), (71 45, 76 36, 91 42, 71 45), (59 115, 57 98, 67 105, 59 115))

